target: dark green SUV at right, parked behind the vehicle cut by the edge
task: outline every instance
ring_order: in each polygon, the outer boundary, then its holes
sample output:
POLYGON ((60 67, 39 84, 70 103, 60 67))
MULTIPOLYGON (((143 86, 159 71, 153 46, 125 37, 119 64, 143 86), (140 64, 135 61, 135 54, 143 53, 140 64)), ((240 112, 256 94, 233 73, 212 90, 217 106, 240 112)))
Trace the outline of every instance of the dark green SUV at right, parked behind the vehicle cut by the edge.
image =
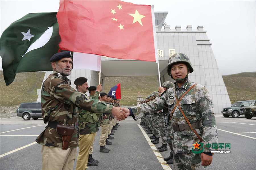
POLYGON ((237 101, 231 107, 223 108, 221 113, 225 118, 230 115, 233 118, 238 118, 238 116, 243 115, 243 108, 247 106, 253 106, 255 100, 245 100, 245 101, 237 101))

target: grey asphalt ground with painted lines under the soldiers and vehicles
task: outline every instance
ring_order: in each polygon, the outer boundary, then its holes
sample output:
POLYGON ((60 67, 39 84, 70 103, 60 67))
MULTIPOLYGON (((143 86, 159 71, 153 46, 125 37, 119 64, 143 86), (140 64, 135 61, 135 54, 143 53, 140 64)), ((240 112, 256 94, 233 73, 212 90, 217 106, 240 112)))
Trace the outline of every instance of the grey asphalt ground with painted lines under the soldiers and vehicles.
MULTIPOLYGON (((0 130, 0 169, 35 170, 41 169, 41 145, 35 143, 36 137, 46 126, 42 120, 24 121, 22 118, 3 118, 0 130)), ((100 153, 98 145, 100 131, 96 135, 93 157, 99 165, 93 169, 173 169, 163 157, 170 154, 170 149, 158 152, 161 145, 148 142, 148 136, 131 117, 119 122, 120 127, 114 133, 109 153, 100 153)), ((230 143, 231 153, 214 154, 212 164, 207 169, 256 169, 256 118, 250 120, 244 116, 224 118, 216 116, 218 143, 230 143)), ((225 149, 222 149, 225 150, 225 149)), ((75 169, 76 161, 74 163, 75 169)))

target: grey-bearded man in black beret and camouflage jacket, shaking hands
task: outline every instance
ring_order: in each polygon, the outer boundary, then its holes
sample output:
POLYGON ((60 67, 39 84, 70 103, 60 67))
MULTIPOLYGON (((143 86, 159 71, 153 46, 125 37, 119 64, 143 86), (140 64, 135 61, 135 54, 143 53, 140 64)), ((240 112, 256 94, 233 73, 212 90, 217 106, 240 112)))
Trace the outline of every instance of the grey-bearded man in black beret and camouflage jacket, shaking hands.
POLYGON ((42 145, 42 169, 73 169, 78 147, 77 107, 92 113, 112 113, 119 120, 126 115, 120 108, 90 99, 70 86, 70 51, 54 54, 50 61, 53 73, 44 81, 41 92, 42 118, 48 125, 36 142, 42 145))

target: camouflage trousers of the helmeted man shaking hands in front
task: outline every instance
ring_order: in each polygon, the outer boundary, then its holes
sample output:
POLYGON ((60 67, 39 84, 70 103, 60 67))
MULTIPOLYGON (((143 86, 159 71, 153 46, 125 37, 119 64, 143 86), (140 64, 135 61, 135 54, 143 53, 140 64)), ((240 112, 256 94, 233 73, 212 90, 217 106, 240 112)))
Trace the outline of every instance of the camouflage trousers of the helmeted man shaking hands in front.
POLYGON ((174 169, 175 170, 203 170, 207 166, 202 166, 200 154, 174 154, 174 169))

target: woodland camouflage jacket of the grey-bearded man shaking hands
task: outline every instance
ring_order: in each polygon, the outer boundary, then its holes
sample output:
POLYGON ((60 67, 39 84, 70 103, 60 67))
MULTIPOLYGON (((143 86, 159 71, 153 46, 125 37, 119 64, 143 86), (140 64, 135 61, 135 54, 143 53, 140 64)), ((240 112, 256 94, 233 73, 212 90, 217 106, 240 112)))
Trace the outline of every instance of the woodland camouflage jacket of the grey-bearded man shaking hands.
MULTIPOLYGON (((111 113, 113 106, 97 99, 90 99, 85 94, 73 89, 68 82, 70 83, 68 78, 57 74, 56 71, 53 71, 53 74, 44 81, 41 104, 42 118, 45 124, 48 121, 58 124, 75 124, 78 120, 77 107, 92 113, 111 113)), ((37 137, 36 142, 45 146, 62 147, 61 135, 56 132, 56 129, 48 126, 37 137)), ((72 134, 68 147, 78 147, 77 130, 72 134)))

